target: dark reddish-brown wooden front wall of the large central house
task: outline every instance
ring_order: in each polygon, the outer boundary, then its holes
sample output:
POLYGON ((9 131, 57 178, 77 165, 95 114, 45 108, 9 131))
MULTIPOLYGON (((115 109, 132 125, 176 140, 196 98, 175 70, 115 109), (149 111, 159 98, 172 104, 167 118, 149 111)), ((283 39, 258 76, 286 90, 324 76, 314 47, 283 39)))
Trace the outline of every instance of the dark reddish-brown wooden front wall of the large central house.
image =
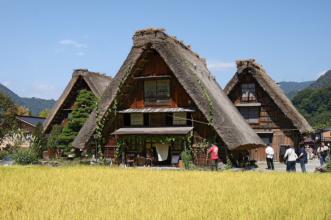
MULTIPOLYGON (((196 104, 191 100, 191 97, 188 95, 188 93, 184 90, 184 88, 181 86, 181 84, 178 82, 177 78, 174 76, 172 71, 169 69, 169 67, 166 65, 166 62, 155 53, 151 56, 149 61, 146 63, 145 68, 142 70, 142 73, 140 76, 134 78, 135 82, 133 84, 132 92, 127 94, 126 100, 117 107, 117 109, 146 109, 146 108, 185 108, 185 107, 196 107, 196 104), (169 91, 169 98, 167 101, 162 101, 162 103, 156 103, 156 104, 150 104, 146 103, 146 85, 150 85, 151 81, 156 80, 163 80, 164 82, 169 82, 168 87, 169 91), (147 82, 147 83, 146 83, 147 82)), ((164 83, 163 82, 163 83, 164 83)), ((167 89, 166 89, 167 91, 167 89)), ((164 91, 163 91, 164 92, 164 91)), ((166 96, 165 96, 166 97, 166 96)), ((185 113, 185 112, 184 112, 185 113)), ((104 134, 106 134, 106 143, 103 145, 103 154, 104 157, 110 158, 115 155, 116 148, 117 148, 117 140, 119 138, 118 135, 111 135, 112 132, 118 130, 119 128, 129 128, 129 127, 161 127, 161 128, 167 128, 167 127, 176 127, 176 126, 183 126, 183 127, 194 127, 193 128, 193 134, 192 137, 192 143, 193 146, 195 146, 195 143, 202 142, 204 138, 211 138, 215 136, 215 132, 212 130, 212 128, 203 123, 196 123, 192 122, 189 119, 194 119, 196 121, 207 123, 206 118, 202 115, 202 113, 197 109, 194 112, 186 112, 183 117, 187 118, 187 123, 182 125, 169 125, 169 117, 174 116, 177 114, 174 113, 162 113, 162 112, 154 112, 154 113, 148 113, 144 114, 144 124, 142 125, 132 125, 132 118, 131 118, 131 125, 126 124, 126 116, 125 114, 118 113, 114 119, 114 121, 105 128, 104 134), (173 114, 173 115, 171 115, 173 114), (149 123, 145 123, 148 121, 149 123)), ((132 117, 132 114, 130 115, 132 117)), ((175 119, 175 118, 173 118, 175 119)), ((134 136, 134 135, 133 135, 134 136)), ((186 136, 186 134, 184 135, 186 136)), ((220 142, 220 139, 217 139, 220 142)), ((138 149, 137 147, 133 147, 132 145, 134 142, 129 141, 125 142, 125 148, 124 148, 124 154, 126 153, 135 153, 138 149)), ((166 162, 163 162, 163 164, 170 164, 171 163, 171 156, 173 155, 180 155, 181 151, 184 148, 184 145, 186 143, 178 143, 177 141, 171 142, 169 144, 169 150, 168 150, 168 159, 166 162)), ((147 142, 144 141, 143 143, 138 143, 138 148, 143 148, 143 153, 149 152, 149 149, 151 146, 155 146, 155 142, 147 142)), ((225 162, 225 147, 224 145, 219 146, 221 149, 223 147, 223 151, 220 150, 219 156, 221 161, 225 162), (222 156, 221 156, 222 155, 222 156)), ((196 160, 196 164, 199 165, 198 161, 200 161, 201 165, 208 166, 209 161, 206 164, 202 164, 202 158, 206 156, 206 154, 199 154, 198 160, 196 160)), ((123 158, 124 159, 124 158, 123 158)))

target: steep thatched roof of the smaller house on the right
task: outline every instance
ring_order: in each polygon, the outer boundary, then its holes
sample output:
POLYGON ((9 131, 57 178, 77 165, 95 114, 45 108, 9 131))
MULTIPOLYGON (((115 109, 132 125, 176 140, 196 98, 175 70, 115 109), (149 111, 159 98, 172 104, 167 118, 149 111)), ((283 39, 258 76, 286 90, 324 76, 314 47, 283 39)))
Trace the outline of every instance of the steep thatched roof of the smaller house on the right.
POLYGON ((224 88, 225 94, 235 88, 239 80, 247 73, 252 74, 265 92, 273 99, 275 104, 284 112, 285 116, 291 120, 293 125, 299 129, 300 133, 313 131, 307 120, 293 106, 292 102, 285 95, 275 81, 265 72, 260 63, 255 62, 254 58, 238 59, 237 72, 224 88))

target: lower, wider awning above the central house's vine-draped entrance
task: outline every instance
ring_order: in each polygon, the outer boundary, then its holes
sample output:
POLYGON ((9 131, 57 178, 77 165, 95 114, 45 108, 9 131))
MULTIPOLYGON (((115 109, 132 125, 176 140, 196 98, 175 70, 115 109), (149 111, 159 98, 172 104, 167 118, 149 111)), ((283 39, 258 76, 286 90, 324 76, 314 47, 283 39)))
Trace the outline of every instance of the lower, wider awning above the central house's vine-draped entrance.
POLYGON ((119 128, 115 134, 187 134, 194 127, 119 128))

